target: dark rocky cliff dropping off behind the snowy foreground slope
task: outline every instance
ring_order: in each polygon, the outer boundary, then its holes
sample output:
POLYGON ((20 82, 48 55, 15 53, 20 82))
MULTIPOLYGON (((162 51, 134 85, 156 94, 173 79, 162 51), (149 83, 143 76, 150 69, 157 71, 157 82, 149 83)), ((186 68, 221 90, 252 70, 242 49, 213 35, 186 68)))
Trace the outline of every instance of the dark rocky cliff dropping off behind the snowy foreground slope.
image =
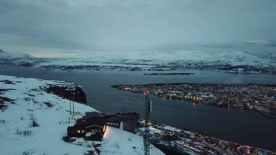
POLYGON ((50 86, 47 89, 48 93, 54 93, 61 97, 81 102, 82 104, 87 105, 86 95, 80 87, 75 87, 75 90, 68 89, 68 87, 59 87, 59 86, 50 86))

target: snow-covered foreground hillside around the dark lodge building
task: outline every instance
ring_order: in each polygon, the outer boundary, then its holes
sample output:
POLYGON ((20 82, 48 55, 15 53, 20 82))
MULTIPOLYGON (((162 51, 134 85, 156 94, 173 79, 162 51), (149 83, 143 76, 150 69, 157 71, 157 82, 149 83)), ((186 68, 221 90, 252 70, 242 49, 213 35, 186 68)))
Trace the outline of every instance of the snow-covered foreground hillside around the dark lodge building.
MULTIPOLYGON (((142 137, 109 126, 103 141, 94 142, 101 144, 97 151, 93 141, 64 142, 67 126, 75 123, 72 119, 96 110, 76 103, 72 118, 69 100, 45 92, 50 85, 75 87, 71 82, 0 75, 0 154, 143 154, 142 137), (39 126, 33 127, 31 118, 39 126)), ((164 154, 152 147, 151 154, 164 154)))

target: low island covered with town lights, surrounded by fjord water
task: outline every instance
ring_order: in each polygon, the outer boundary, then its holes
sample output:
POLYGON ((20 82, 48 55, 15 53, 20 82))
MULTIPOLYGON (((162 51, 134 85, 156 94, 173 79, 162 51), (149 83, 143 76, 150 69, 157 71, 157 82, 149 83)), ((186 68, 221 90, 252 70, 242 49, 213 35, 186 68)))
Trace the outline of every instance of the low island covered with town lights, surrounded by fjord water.
POLYGON ((149 91, 158 97, 190 100, 207 105, 252 109, 269 113, 268 116, 273 118, 276 115, 276 85, 172 83, 111 87, 134 93, 149 91))

